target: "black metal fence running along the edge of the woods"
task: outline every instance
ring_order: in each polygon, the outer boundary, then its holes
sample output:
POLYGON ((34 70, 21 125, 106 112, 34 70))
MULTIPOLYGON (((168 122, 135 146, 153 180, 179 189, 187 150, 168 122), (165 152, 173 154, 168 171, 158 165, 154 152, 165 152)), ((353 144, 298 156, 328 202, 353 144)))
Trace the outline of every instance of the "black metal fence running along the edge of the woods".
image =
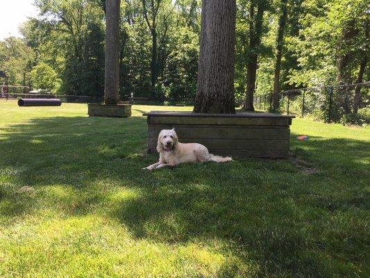
MULTIPOLYGON (((22 86, 14 86, 12 90, 19 92, 4 92, 0 90, 0 99, 17 98, 58 98, 67 103, 102 103, 103 96, 79 96, 79 95, 53 95, 53 94, 31 94, 24 93, 22 86)), ((10 87, 9 87, 10 88, 10 87)), ((361 99, 358 108, 369 107, 370 105, 370 82, 345 85, 322 85, 309 88, 285 90, 279 94, 278 108, 280 113, 296 115, 299 117, 315 117, 326 122, 338 122, 343 115, 351 114, 351 106, 355 101, 355 92, 360 92, 361 99), (348 103, 347 111, 339 102, 344 100, 348 103)), ((192 106, 194 99, 189 98, 165 98, 155 99, 151 97, 131 97, 124 95, 123 101, 130 101, 133 104, 146 105, 171 105, 171 106, 192 106)), ((237 105, 242 105, 244 99, 237 99, 237 105)), ((256 110, 272 111, 271 94, 255 95, 253 104, 256 110)), ((345 107, 344 107, 345 108, 345 107)))

